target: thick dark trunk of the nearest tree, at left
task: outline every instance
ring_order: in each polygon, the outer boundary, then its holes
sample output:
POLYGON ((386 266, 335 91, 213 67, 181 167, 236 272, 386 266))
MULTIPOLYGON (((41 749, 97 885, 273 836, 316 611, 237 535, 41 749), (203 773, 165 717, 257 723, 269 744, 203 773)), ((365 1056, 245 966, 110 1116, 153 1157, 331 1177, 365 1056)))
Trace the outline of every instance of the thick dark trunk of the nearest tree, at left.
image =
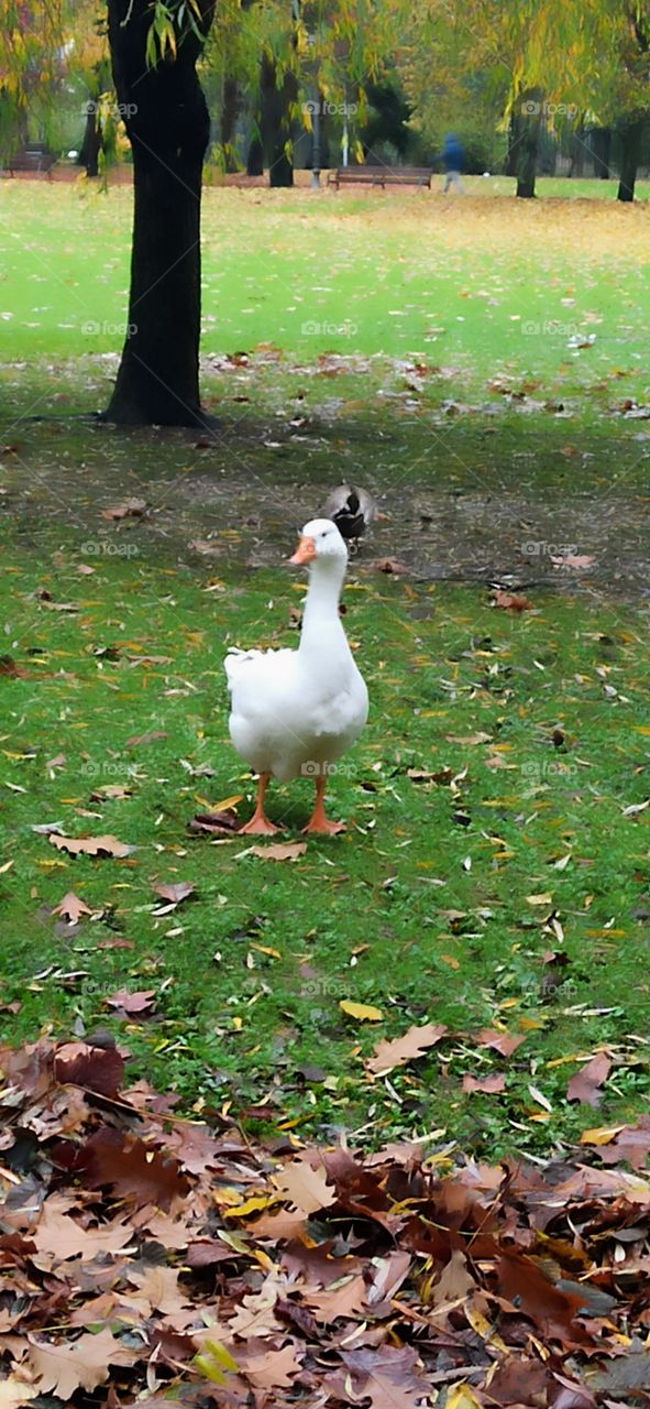
MULTIPOLYGON (((201 0, 203 32, 214 0, 201 0)), ((210 117, 196 73, 198 37, 146 65, 149 0, 108 0, 118 101, 134 154, 134 242, 127 340, 106 418, 205 426, 198 396, 200 211, 210 117)))

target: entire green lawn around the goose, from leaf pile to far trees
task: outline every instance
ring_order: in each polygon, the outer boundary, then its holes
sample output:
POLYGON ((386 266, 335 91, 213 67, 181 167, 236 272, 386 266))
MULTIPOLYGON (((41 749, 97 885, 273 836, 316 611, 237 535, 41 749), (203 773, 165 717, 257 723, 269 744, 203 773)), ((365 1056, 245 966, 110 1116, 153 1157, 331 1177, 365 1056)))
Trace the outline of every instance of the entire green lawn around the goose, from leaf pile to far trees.
MULTIPOLYGON (((647 1112, 643 600, 608 600, 609 581, 605 595, 540 588, 514 614, 478 582, 381 576, 370 547, 345 593, 371 697, 332 781, 348 833, 277 862, 187 827, 225 799, 250 807, 221 661, 229 643, 297 641, 302 583, 279 565, 297 499, 314 504, 352 471, 380 492, 460 485, 484 503, 525 480, 557 503, 566 542, 573 499, 606 497, 619 472, 647 488, 644 421, 615 404, 647 396, 646 210, 208 192, 205 392, 225 428, 201 459, 181 435, 15 421, 34 403, 65 416, 106 400, 129 196, 6 183, 3 197, 4 1034, 108 1026, 134 1076, 186 1107, 243 1112, 250 1129, 371 1143, 436 1129, 495 1157, 647 1112), (304 330, 345 318, 353 334, 304 330), (543 331, 563 318, 595 342, 543 331), (253 348, 252 371, 211 364, 253 348), (325 352, 350 361, 318 364, 325 352), (567 407, 549 411, 560 393, 567 407), (190 497, 194 476, 190 528, 173 495, 181 483, 190 497), (205 486, 221 480, 219 507, 205 486), (100 517, 144 485, 149 520, 100 517), (189 552, 190 531, 218 554, 189 552), (34 830, 46 824, 136 850, 73 859, 34 830), (194 895, 156 914, 153 886, 179 881, 194 895), (93 910, 73 933, 52 914, 68 890, 93 910), (106 1000, 121 988, 152 991, 152 1013, 115 1016, 106 1000), (359 1022, 342 1000, 381 1017, 359 1022), (429 1020, 447 1026, 435 1053, 370 1082, 374 1043, 429 1020), (504 1060, 477 1045, 483 1029, 525 1040, 504 1060), (613 1057, 601 1107, 568 1103, 568 1078, 601 1045, 613 1057), (499 1072, 501 1093, 463 1089, 499 1072)), ((270 813, 294 837, 310 803, 305 782, 276 786, 270 813)))

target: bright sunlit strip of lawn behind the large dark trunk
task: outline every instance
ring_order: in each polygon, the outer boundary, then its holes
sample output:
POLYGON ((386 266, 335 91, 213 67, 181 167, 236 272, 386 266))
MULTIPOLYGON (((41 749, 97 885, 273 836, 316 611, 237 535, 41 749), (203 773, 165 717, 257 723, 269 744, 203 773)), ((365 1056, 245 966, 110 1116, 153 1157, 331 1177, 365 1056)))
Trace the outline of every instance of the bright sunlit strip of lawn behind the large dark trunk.
MULTIPOLYGON (((120 351, 129 189, 3 182, 1 193, 3 359, 120 351)), ((459 364, 477 389, 516 371, 567 395, 623 368, 636 395, 647 237, 647 204, 208 189, 204 354, 272 342, 310 359, 419 356, 459 364), (590 337, 587 351, 568 345, 590 337)))

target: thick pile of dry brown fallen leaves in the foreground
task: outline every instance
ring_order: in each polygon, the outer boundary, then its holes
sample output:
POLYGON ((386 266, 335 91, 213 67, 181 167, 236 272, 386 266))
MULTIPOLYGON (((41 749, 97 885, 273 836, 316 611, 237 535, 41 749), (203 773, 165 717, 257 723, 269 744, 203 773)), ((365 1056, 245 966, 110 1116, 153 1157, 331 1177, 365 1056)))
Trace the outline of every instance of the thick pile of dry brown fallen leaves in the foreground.
MULTIPOLYGON (((640 1175, 253 1147, 107 1034, 0 1067, 4 1409, 650 1403, 640 1175)), ((602 1138, 639 1165, 650 1122, 602 1138)))

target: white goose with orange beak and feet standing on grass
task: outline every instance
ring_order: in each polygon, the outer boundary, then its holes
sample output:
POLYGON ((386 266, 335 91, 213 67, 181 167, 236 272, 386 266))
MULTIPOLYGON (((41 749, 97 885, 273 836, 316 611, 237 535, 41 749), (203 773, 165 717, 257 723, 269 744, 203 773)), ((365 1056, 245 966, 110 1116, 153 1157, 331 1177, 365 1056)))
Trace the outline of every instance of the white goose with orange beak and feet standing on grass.
POLYGON ((339 616, 348 548, 328 519, 302 528, 290 559, 310 564, 310 589, 297 651, 236 651, 224 661, 231 692, 231 740, 259 774, 257 802, 242 833, 279 831, 265 814, 269 778, 312 778, 317 788, 308 833, 345 826, 325 816, 328 765, 360 734, 369 710, 366 683, 356 668, 339 616))

